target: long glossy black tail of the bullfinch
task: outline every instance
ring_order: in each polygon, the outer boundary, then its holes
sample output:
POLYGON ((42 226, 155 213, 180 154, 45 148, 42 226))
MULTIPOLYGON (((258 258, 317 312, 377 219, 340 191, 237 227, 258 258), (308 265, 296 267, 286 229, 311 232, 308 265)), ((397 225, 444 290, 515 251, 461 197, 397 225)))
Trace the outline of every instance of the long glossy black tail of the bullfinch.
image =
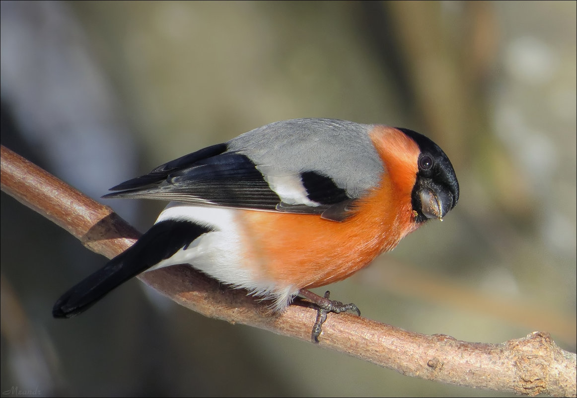
POLYGON ((64 293, 54 304, 52 315, 70 318, 83 313, 114 288, 210 231, 189 221, 167 220, 153 225, 132 247, 64 293))

